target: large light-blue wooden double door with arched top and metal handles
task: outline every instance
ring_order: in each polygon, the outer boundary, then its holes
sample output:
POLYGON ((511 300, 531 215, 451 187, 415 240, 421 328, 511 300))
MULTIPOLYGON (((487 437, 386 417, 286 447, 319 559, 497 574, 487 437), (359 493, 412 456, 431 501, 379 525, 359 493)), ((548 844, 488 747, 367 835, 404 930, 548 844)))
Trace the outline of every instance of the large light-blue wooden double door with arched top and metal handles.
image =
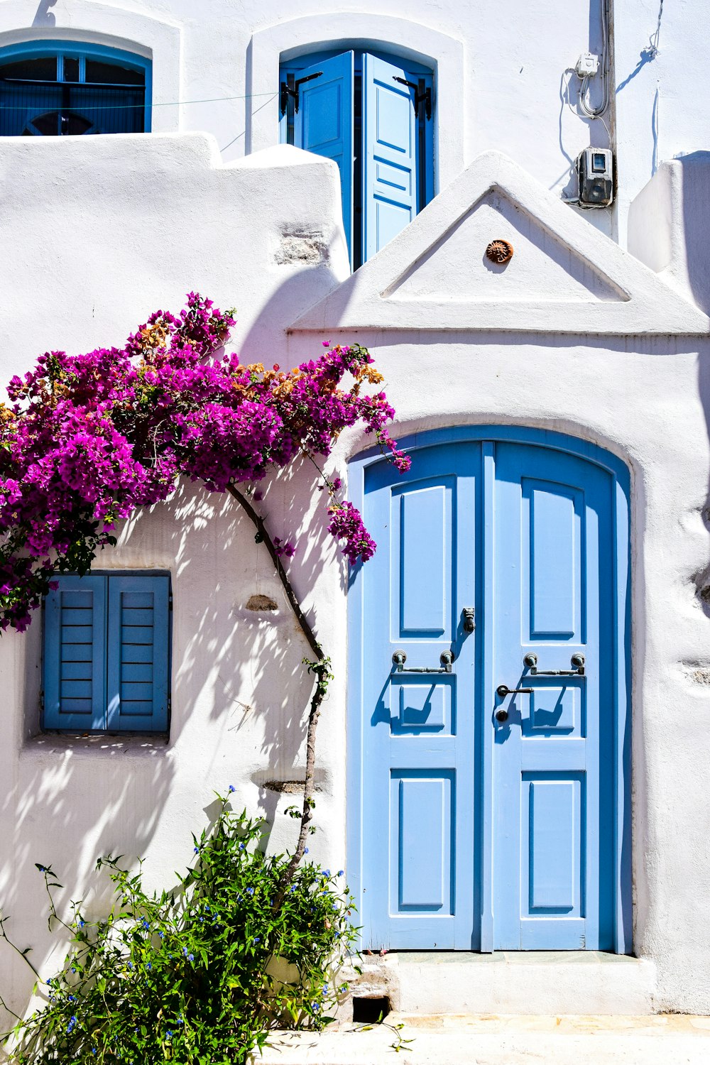
POLYGON ((614 949, 613 476, 461 441, 364 491, 364 945, 614 949))

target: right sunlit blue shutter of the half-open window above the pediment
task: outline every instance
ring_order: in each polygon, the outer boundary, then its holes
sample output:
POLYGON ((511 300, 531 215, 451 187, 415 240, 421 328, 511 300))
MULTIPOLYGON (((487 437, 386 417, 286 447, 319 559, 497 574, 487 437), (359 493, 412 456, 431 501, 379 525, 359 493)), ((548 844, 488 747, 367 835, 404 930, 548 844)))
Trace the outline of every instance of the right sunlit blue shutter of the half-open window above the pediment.
MULTIPOLYGON (((431 199, 433 122, 423 118, 426 158, 422 159, 414 89, 395 80, 416 84, 420 76, 367 53, 362 63, 363 259, 367 260, 431 199)), ((430 76, 425 83, 431 86, 430 76)))

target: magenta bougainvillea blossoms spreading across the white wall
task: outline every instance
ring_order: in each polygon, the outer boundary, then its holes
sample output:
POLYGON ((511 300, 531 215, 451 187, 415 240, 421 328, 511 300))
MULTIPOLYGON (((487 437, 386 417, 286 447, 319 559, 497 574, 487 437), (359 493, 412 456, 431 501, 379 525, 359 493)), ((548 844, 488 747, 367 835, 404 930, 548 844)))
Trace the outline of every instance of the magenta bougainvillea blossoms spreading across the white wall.
MULTIPOLYGON (((358 423, 409 468, 386 396, 364 389, 382 380, 365 348, 326 342, 290 373, 242 365, 221 354, 233 324, 189 293, 178 316, 156 311, 122 348, 51 351, 12 379, 0 405, 0 627, 24 629, 53 572, 87 572, 116 522, 167 498, 181 475, 215 492, 249 488, 299 455, 329 455, 358 423)), ((340 487, 324 478, 329 530, 351 562, 367 560, 375 543, 340 487)))

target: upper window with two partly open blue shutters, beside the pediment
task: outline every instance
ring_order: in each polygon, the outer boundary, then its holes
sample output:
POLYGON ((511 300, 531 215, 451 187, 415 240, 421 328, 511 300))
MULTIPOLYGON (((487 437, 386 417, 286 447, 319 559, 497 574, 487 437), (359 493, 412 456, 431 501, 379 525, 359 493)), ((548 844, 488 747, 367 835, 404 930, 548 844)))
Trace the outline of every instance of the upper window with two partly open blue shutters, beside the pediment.
POLYGON ((433 76, 414 63, 348 51, 281 68, 281 141, 337 163, 353 269, 434 190, 433 76))

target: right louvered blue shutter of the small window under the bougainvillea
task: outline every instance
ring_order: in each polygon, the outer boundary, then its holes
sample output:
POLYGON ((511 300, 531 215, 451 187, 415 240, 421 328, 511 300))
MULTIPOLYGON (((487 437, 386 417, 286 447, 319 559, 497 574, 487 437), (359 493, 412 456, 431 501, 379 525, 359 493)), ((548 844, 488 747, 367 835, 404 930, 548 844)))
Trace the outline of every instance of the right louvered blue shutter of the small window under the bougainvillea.
POLYGON ((108 579, 108 728, 167 732, 169 578, 108 579))

